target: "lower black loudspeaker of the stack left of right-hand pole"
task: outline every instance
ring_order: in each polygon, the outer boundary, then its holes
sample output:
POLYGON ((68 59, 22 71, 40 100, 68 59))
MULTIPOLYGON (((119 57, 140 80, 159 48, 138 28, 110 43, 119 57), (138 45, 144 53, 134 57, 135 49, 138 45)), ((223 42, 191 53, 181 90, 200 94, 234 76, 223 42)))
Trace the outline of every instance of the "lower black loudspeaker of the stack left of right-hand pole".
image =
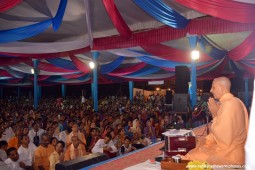
POLYGON ((174 111, 176 113, 189 111, 189 95, 185 93, 177 93, 174 95, 174 111))

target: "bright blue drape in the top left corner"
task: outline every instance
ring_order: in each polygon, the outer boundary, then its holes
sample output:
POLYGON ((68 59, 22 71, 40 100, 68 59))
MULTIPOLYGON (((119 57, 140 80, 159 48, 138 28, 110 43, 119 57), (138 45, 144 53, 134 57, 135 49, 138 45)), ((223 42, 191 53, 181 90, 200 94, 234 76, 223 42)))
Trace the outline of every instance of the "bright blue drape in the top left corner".
POLYGON ((0 31, 0 43, 14 42, 18 40, 23 40, 26 38, 33 37, 46 29, 48 29, 51 24, 54 31, 57 31, 62 23, 62 19, 65 13, 65 8, 67 5, 67 0, 61 0, 57 14, 54 18, 48 19, 36 24, 0 31))

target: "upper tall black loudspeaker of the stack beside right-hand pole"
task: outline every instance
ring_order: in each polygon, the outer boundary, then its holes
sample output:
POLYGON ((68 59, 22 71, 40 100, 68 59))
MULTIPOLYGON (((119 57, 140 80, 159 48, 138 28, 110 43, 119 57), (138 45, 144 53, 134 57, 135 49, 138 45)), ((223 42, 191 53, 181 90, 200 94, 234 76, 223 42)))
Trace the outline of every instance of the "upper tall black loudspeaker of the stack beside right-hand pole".
POLYGON ((175 93, 188 93, 190 71, 187 66, 175 66, 175 93))

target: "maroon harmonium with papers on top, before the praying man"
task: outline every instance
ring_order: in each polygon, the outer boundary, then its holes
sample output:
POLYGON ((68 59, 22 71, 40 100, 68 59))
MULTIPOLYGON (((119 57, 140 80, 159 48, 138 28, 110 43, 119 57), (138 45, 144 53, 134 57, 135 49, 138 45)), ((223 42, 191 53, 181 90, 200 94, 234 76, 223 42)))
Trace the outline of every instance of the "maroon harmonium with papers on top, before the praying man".
POLYGON ((171 129, 162 133, 165 138, 165 155, 185 155, 196 147, 196 138, 192 130, 171 129))

